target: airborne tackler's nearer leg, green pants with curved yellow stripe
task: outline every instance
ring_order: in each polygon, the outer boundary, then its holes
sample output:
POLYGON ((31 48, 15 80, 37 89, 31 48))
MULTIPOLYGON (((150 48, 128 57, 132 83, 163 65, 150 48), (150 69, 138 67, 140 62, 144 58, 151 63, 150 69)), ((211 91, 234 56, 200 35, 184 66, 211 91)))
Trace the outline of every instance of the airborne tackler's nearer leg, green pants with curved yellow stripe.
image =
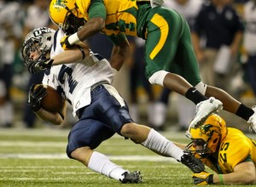
MULTIPOLYGON (((153 8, 150 14, 148 14, 147 23, 148 35, 145 45, 145 59, 146 75, 149 82, 159 84, 178 94, 182 94, 195 104, 207 100, 207 97, 197 91, 196 88, 193 88, 191 81, 188 82, 183 77, 183 71, 188 67, 183 66, 183 63, 175 62, 178 52, 182 56, 189 55, 189 51, 178 51, 179 48, 182 48, 183 42, 189 42, 190 48, 192 48, 191 40, 181 42, 183 32, 187 29, 189 31, 189 27, 186 27, 186 22, 181 15, 166 8, 153 8)), ((198 71, 196 59, 193 65, 195 67, 192 71, 198 71)), ((193 82, 201 81, 199 74, 191 73, 194 76, 193 82)), ((200 115, 197 115, 195 118, 195 123, 203 122, 213 111, 218 111, 221 105, 222 103, 217 99, 214 99, 213 103, 208 101, 207 106, 203 107, 203 112, 200 111, 198 113, 200 115)))

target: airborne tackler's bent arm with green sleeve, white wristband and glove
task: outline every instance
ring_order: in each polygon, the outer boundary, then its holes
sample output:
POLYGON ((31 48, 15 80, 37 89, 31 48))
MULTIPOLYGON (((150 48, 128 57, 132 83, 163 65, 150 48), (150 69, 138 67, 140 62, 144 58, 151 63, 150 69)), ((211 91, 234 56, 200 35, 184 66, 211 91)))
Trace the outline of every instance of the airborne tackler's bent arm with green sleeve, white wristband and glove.
POLYGON ((89 20, 84 24, 80 31, 71 36, 61 39, 62 48, 70 48, 77 42, 84 41, 90 36, 95 35, 105 26, 107 11, 102 0, 91 0, 88 10, 89 20))

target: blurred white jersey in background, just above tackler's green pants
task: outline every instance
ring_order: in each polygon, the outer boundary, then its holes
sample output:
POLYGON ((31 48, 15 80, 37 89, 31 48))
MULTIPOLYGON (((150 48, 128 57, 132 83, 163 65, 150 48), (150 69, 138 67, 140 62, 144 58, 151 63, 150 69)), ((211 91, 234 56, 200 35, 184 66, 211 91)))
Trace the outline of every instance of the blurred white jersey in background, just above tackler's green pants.
POLYGON ((195 17, 199 13, 203 3, 203 0, 188 0, 188 2, 184 4, 177 3, 176 0, 166 0, 163 6, 175 9, 188 21, 189 26, 193 26, 195 17))

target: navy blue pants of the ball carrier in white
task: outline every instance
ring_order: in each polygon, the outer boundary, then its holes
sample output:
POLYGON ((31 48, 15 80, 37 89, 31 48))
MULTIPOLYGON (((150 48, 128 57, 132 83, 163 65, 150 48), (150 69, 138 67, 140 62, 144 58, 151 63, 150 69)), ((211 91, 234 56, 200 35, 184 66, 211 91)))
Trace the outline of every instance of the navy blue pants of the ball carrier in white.
POLYGON ((132 122, 128 106, 121 106, 104 86, 96 87, 90 94, 90 105, 79 110, 79 122, 68 135, 67 156, 70 158, 73 150, 84 146, 94 150, 114 133, 120 134, 124 124, 132 122))

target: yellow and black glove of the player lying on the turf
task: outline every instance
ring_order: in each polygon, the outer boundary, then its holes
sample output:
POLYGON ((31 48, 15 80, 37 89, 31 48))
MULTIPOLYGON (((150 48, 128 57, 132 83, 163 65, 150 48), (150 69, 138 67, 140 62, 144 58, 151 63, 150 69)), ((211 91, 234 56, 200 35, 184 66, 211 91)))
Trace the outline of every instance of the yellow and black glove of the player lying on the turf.
POLYGON ((194 184, 196 185, 213 184, 213 174, 207 172, 194 173, 192 178, 194 180, 194 184))

